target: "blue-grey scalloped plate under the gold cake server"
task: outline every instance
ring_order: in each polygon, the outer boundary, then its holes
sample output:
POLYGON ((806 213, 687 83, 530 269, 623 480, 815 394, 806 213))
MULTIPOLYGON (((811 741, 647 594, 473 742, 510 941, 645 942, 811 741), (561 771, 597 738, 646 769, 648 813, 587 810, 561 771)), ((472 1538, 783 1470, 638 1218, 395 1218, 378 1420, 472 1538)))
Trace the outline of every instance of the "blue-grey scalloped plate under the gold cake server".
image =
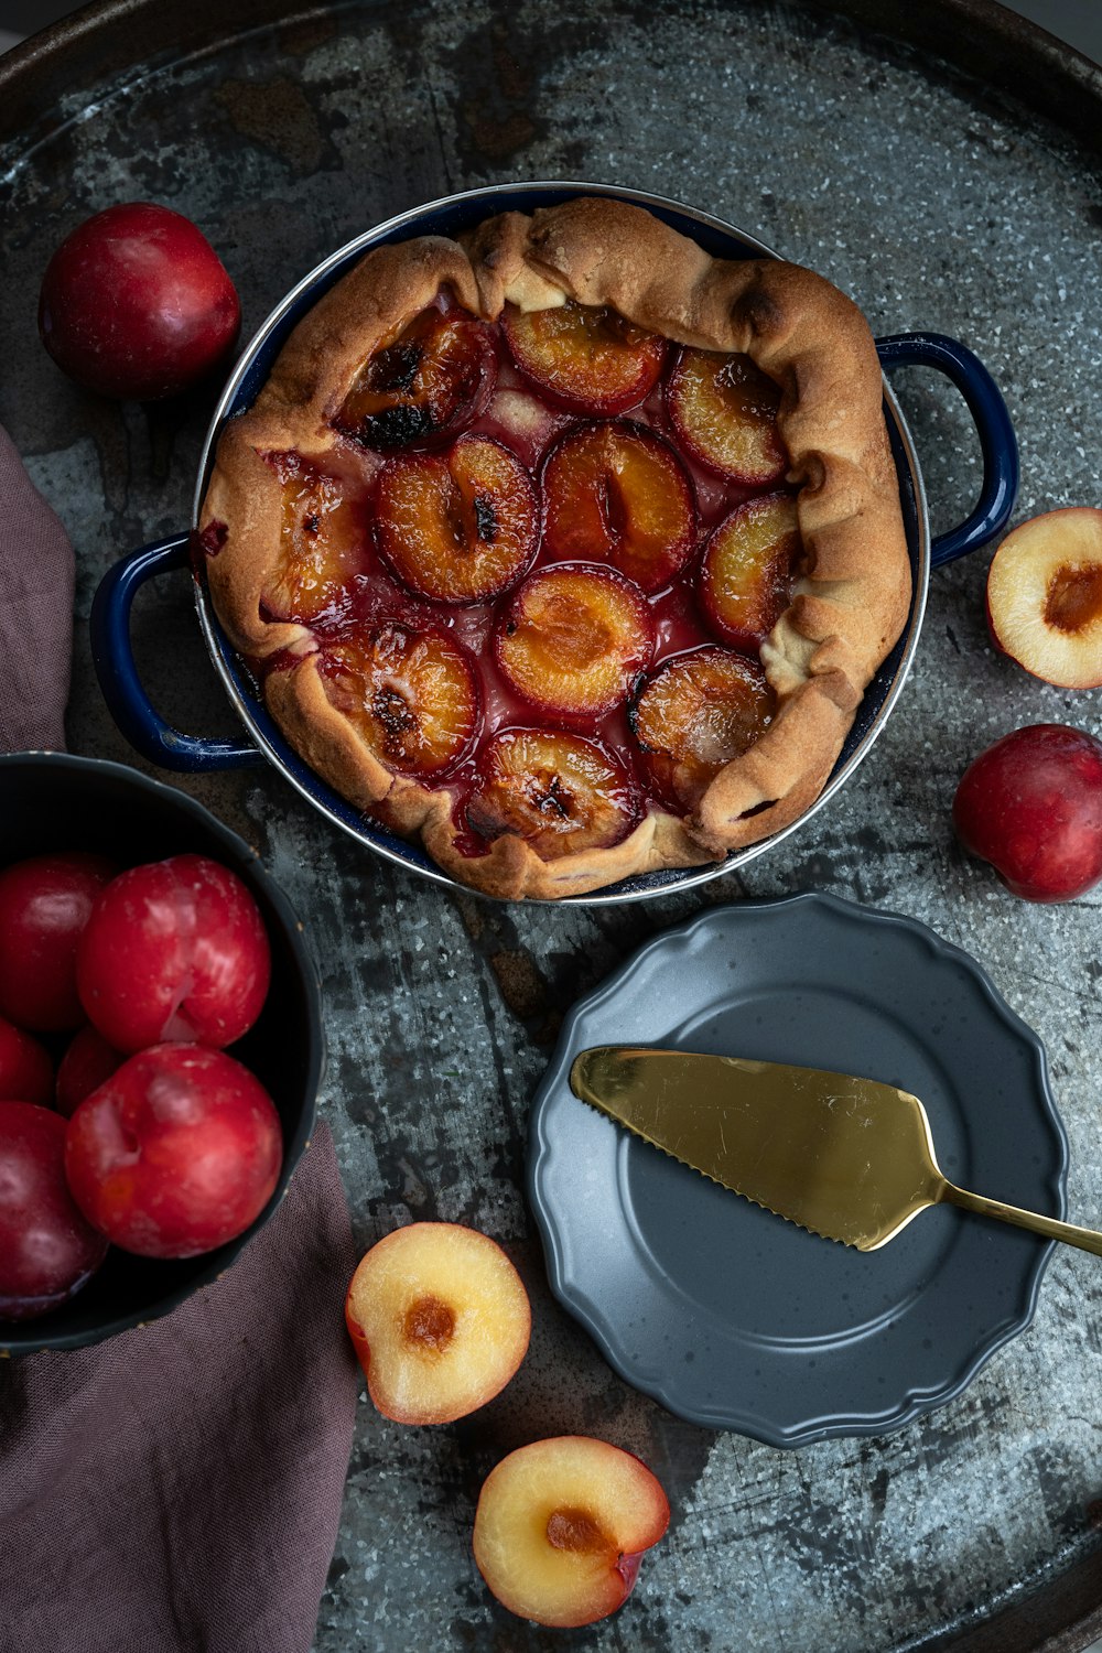
POLYGON ((952 1180, 1052 1217, 1067 1139, 1038 1035, 915 919, 800 894, 648 942, 567 1017, 532 1108, 529 1198, 555 1296, 671 1412, 772 1446, 881 1435, 958 1395, 1033 1319, 1051 1243, 950 1207, 882 1251, 818 1240, 580 1103, 573 1056, 613 1043, 899 1084, 952 1180))

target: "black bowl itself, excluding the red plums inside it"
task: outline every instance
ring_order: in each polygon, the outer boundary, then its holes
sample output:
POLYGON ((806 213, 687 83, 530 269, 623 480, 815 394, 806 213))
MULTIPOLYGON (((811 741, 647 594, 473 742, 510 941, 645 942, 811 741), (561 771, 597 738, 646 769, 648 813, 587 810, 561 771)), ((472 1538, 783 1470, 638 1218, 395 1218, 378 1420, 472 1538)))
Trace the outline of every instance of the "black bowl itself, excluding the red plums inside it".
POLYGON ((324 1060, 321 992, 302 926, 256 851, 202 803, 122 764, 61 752, 0 757, 0 866, 51 850, 93 850, 122 866, 208 855, 248 884, 268 927, 271 988, 256 1027, 230 1053, 273 1098, 284 1157, 276 1192, 236 1240, 180 1261, 112 1246, 99 1273, 61 1308, 33 1321, 0 1321, 0 1355, 99 1342, 167 1314, 225 1273, 287 1192, 314 1126, 324 1060))

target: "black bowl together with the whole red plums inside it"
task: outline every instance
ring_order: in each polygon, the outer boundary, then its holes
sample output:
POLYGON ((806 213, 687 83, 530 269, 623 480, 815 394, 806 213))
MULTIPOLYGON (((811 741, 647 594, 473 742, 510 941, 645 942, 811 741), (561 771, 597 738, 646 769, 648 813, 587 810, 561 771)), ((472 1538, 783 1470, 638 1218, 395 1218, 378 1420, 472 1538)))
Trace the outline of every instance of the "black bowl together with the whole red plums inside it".
POLYGON ((0 1355, 216 1281, 309 1144, 317 972, 256 853, 121 764, 0 757, 0 1355))

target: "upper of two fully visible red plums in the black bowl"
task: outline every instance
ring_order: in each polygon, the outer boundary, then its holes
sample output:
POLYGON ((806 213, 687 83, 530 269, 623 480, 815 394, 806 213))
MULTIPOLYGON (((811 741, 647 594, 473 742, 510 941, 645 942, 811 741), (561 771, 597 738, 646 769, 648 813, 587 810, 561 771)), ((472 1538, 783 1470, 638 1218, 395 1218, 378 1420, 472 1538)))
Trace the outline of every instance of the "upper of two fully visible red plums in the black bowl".
POLYGON ((121 873, 81 936, 76 979, 116 1050, 223 1046, 256 1022, 271 977, 259 907, 236 873, 175 855, 121 873))

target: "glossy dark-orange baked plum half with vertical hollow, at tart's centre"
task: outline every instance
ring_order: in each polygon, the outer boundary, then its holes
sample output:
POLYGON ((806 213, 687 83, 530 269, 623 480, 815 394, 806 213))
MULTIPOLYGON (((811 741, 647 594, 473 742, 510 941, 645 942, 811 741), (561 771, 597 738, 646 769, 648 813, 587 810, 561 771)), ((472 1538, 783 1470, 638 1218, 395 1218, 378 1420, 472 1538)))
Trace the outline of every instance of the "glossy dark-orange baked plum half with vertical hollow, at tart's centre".
POLYGON ((552 557, 611 562, 661 592, 696 544, 696 501, 669 443, 644 425, 567 431, 544 466, 544 545, 552 557))

